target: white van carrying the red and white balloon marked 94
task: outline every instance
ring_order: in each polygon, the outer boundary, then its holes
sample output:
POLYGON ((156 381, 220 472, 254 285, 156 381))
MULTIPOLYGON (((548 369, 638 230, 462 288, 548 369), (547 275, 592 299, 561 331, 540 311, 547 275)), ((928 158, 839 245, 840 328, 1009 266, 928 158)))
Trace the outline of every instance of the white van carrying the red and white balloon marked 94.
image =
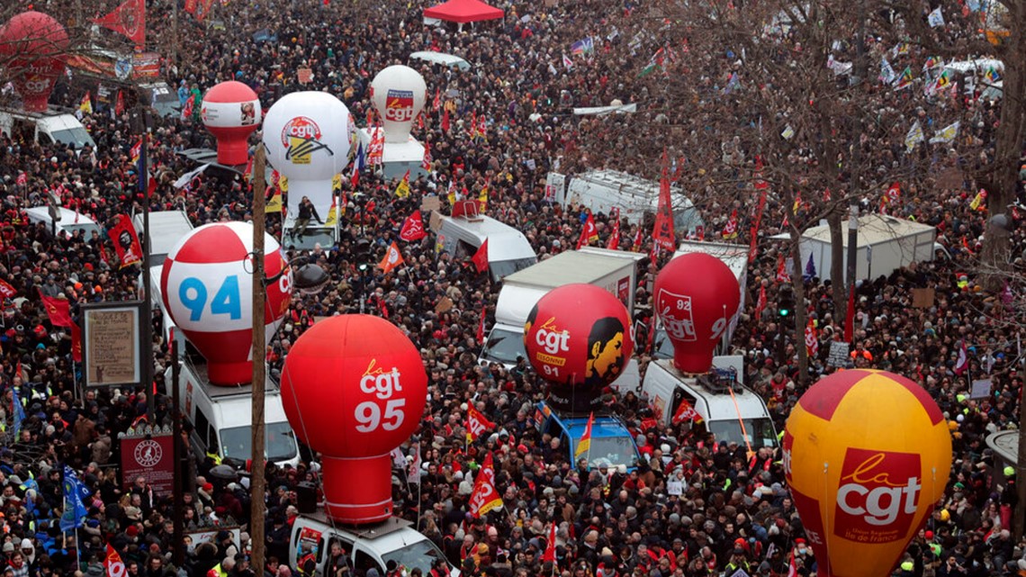
MULTIPOLYGON (((200 355, 185 355, 181 360, 179 390, 184 413, 193 425, 189 441, 196 455, 215 455, 223 462, 244 465, 252 456, 252 385, 211 385, 200 355)), ((170 386, 170 368, 164 377, 170 386)), ((279 466, 294 467, 300 463, 300 446, 285 417, 281 392, 270 380, 265 387, 265 457, 279 466)))

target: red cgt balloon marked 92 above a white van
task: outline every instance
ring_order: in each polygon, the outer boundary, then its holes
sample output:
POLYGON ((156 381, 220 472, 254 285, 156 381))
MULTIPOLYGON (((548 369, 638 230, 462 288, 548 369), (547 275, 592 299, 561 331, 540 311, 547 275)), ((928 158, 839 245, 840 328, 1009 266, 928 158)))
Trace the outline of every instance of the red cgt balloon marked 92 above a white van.
POLYGON ((656 314, 673 343, 673 364, 708 373, 712 353, 738 312, 741 287, 723 261, 704 253, 681 255, 656 277, 656 314))

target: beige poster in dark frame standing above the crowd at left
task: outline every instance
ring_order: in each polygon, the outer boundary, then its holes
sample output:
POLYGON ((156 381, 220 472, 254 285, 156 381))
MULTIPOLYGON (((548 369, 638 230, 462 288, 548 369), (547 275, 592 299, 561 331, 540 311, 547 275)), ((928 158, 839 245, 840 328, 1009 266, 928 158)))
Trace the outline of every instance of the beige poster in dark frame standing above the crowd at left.
POLYGON ((85 386, 143 384, 143 303, 83 305, 82 318, 85 386))

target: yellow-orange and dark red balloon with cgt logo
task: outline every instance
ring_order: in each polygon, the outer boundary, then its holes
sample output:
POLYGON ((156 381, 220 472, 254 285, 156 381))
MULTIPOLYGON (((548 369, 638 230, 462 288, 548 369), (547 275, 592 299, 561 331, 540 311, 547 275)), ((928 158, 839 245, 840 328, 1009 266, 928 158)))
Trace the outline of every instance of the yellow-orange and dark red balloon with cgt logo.
POLYGON ((919 385, 844 371, 821 379, 791 411, 784 470, 818 575, 890 575, 944 496, 951 434, 919 385))

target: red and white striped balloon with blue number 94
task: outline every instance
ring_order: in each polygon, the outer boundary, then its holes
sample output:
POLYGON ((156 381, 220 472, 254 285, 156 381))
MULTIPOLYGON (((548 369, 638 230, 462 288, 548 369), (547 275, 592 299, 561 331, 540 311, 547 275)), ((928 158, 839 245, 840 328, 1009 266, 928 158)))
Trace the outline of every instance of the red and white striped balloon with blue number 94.
MULTIPOLYGON (((215 385, 252 381, 252 225, 214 223, 171 248, 160 275, 164 308, 207 361, 215 385)), ((270 343, 292 298, 292 274, 278 242, 264 235, 269 278, 264 323, 270 343), (281 274, 284 271, 284 274, 281 274)))

